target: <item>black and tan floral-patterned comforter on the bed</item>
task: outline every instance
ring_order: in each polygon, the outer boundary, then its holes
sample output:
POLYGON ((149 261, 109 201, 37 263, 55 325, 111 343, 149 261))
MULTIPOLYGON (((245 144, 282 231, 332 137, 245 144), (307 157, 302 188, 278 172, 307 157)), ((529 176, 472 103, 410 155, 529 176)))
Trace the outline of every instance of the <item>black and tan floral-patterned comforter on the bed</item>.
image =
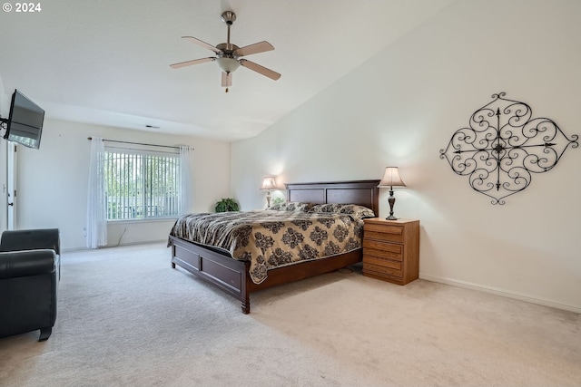
POLYGON ((260 284, 271 268, 360 248, 363 221, 348 214, 300 211, 189 214, 178 218, 170 235, 250 261, 251 279, 260 284))

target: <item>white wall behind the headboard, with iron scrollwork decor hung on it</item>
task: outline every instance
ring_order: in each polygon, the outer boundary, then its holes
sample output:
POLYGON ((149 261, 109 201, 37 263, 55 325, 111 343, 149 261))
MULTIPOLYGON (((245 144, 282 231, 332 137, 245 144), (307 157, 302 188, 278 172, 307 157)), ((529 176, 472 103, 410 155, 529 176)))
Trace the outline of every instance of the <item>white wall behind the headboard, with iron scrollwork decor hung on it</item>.
POLYGON ((420 277, 581 312, 581 149, 504 206, 438 157, 496 92, 580 134, 579 36, 576 0, 458 1, 268 131, 232 144, 234 196, 261 208, 263 175, 380 179, 399 166, 408 189, 397 190, 395 212, 420 219, 420 277))

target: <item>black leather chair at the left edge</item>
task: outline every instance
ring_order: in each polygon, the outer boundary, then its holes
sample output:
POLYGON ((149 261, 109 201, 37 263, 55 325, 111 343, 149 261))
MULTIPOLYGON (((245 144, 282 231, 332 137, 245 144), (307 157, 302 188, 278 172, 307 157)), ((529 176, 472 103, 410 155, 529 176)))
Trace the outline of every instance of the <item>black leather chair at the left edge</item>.
POLYGON ((53 332, 60 280, 58 228, 5 231, 0 240, 0 337, 53 332))

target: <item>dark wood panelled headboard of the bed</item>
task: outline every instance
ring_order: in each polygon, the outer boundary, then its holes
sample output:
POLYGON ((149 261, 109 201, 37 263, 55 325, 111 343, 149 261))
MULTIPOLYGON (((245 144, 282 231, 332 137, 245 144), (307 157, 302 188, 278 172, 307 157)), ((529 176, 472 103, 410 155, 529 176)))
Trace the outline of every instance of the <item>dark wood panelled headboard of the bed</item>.
POLYGON ((331 181, 285 184, 288 201, 315 204, 358 204, 371 208, 379 217, 380 180, 331 181))

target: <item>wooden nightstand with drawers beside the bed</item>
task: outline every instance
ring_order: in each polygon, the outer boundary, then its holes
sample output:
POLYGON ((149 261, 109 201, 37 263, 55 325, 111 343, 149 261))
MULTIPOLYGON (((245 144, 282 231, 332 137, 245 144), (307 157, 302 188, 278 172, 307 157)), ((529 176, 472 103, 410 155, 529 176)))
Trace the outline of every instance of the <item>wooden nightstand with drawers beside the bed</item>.
POLYGON ((419 276, 419 220, 365 219, 363 275, 406 285, 419 276))

